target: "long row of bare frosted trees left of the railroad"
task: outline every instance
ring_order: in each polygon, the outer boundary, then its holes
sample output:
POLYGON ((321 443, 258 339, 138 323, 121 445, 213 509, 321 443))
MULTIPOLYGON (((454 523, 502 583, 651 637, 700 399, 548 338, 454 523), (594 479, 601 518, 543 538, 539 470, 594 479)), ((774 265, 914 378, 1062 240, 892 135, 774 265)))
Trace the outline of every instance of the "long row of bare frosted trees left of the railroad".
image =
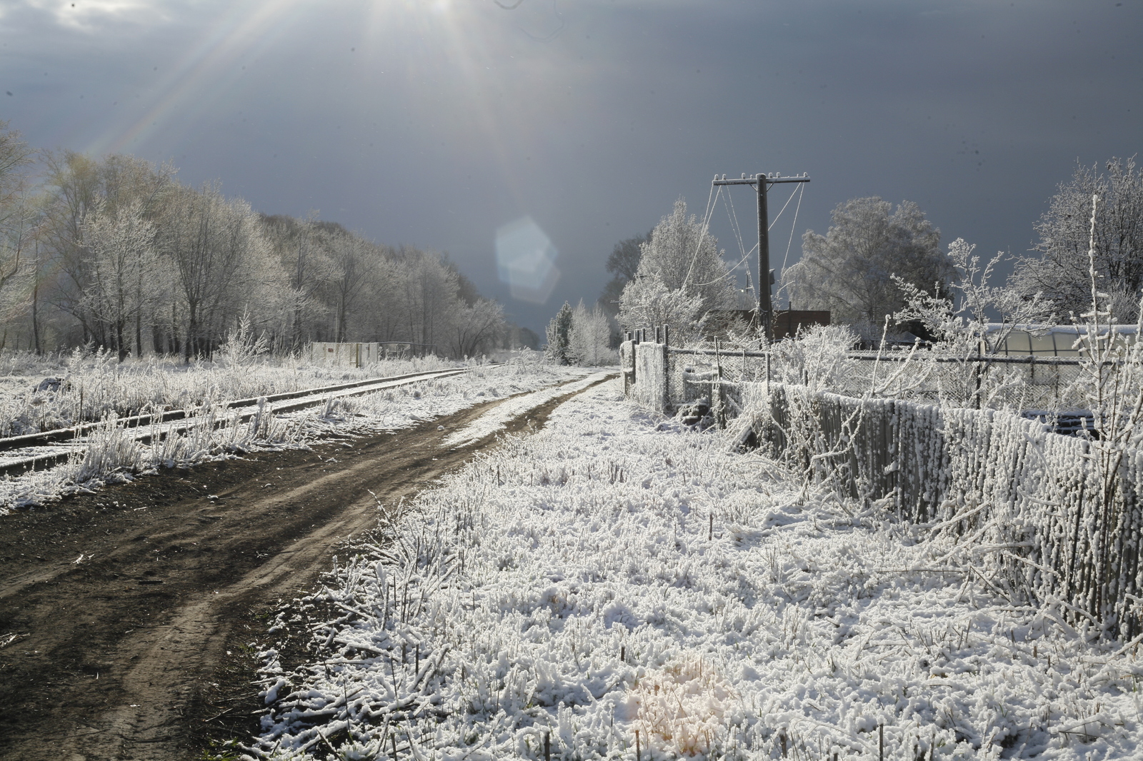
MULTIPOLYGON (((218 183, 113 154, 40 152, 0 122, 0 349, 209 357, 246 322, 273 350, 530 344, 446 255, 266 215, 218 183)), ((530 334, 530 335, 529 335, 530 334)))

